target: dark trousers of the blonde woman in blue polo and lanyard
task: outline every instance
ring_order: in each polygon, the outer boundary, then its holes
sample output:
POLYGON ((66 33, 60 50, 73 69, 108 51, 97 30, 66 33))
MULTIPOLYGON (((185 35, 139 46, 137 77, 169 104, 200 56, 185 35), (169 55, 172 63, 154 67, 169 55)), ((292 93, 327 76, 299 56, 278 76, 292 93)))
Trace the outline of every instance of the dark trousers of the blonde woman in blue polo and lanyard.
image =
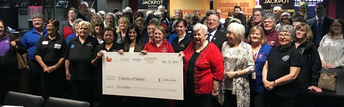
POLYGON ((250 92, 250 107, 266 107, 266 96, 265 92, 250 92))

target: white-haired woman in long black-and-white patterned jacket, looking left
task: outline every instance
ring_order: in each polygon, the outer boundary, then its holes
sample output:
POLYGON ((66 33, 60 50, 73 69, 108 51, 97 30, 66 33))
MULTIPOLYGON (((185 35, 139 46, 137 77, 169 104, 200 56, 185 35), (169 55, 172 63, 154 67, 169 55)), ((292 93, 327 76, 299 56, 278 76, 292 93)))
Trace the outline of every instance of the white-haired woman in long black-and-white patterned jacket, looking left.
POLYGON ((227 28, 227 39, 222 45, 225 66, 218 102, 224 107, 249 107, 250 88, 248 74, 254 72, 251 45, 243 41, 245 27, 231 23, 227 28))

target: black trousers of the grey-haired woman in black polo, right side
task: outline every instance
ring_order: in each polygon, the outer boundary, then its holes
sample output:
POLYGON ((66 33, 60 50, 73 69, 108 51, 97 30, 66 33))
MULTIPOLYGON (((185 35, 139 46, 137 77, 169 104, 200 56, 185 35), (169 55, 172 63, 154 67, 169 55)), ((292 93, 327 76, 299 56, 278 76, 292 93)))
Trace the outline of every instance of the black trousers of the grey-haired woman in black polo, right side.
POLYGON ((295 107, 295 98, 282 97, 271 92, 266 92, 267 107, 295 107))

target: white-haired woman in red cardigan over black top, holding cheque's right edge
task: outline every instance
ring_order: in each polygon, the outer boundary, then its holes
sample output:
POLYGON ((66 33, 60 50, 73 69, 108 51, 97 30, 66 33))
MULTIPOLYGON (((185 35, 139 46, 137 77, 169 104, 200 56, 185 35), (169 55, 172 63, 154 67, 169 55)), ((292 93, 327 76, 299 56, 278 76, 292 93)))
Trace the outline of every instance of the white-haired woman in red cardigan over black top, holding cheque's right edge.
POLYGON ((221 52, 206 40, 207 27, 193 26, 193 39, 180 53, 184 56, 185 103, 187 107, 212 107, 212 96, 218 95, 224 65, 221 52))

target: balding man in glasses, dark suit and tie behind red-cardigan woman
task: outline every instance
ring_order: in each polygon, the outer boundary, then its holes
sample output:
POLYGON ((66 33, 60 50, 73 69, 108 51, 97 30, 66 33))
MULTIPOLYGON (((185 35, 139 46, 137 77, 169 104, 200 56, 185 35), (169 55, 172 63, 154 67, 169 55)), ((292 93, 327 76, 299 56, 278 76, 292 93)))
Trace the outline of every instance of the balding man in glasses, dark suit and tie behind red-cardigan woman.
POLYGON ((218 49, 221 51, 222 44, 228 39, 226 37, 225 32, 221 32, 220 30, 217 29, 219 25, 219 21, 220 20, 216 14, 209 15, 208 20, 207 20, 208 32, 207 32, 206 39, 214 43, 218 47, 218 49))

